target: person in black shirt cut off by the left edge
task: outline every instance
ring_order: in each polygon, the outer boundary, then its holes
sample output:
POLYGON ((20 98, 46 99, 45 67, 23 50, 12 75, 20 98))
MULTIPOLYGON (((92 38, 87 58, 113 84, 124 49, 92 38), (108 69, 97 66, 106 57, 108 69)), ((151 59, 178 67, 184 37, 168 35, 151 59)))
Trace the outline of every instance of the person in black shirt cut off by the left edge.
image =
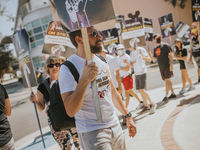
POLYGON ((11 115, 8 94, 0 83, 0 150, 14 150, 14 139, 7 116, 11 115))

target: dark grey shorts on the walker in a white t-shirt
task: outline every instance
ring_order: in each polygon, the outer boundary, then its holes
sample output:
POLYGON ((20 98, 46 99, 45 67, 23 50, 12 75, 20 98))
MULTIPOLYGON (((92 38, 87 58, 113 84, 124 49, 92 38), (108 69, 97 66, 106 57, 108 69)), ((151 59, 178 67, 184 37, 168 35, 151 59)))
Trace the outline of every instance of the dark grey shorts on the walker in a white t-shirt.
POLYGON ((147 79, 146 73, 141 75, 135 75, 136 90, 146 88, 146 79, 147 79))

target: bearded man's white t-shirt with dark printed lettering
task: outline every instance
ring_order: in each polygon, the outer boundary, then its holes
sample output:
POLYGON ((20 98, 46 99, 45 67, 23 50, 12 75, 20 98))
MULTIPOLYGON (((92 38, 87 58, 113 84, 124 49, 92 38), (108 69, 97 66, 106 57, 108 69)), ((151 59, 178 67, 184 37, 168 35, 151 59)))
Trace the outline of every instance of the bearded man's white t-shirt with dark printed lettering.
MULTIPOLYGON (((77 71, 79 72, 79 80, 83 75, 83 69, 85 64, 85 59, 74 54, 68 58, 68 61, 74 64, 77 71)), ((99 59, 94 55, 93 61, 98 66, 99 74, 96 78, 99 101, 102 112, 103 123, 97 122, 94 100, 92 98, 91 83, 88 84, 83 105, 81 109, 76 113, 76 127, 79 133, 94 131, 103 128, 109 128, 116 125, 119 120, 115 114, 114 104, 111 97, 111 87, 110 87, 110 77, 108 64, 99 59)), ((67 66, 62 65, 60 67, 59 73, 59 86, 61 94, 75 91, 77 82, 75 81, 73 75, 67 66)))

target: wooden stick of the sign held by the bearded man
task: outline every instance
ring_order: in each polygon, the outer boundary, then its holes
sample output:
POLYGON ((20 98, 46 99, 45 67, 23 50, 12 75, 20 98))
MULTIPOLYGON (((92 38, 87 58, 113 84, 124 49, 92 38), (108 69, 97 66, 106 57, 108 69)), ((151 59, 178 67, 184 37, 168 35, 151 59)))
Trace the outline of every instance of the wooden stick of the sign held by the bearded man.
MULTIPOLYGON (((87 60, 87 63, 90 64, 92 62, 92 54, 91 54, 91 49, 90 49, 90 44, 89 44, 87 28, 85 27, 81 28, 81 33, 83 37, 86 60, 87 60)), ((91 82, 91 86, 92 86, 92 96, 94 99, 97 121, 103 122, 96 80, 91 82)))

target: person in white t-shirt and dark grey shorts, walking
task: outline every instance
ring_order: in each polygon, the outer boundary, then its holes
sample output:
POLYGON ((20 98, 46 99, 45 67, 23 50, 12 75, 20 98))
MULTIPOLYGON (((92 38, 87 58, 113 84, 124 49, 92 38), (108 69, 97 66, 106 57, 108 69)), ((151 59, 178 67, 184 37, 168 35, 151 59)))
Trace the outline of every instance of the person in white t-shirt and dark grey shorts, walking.
POLYGON ((145 61, 151 62, 151 58, 143 47, 137 48, 138 51, 136 50, 136 46, 130 49, 132 51, 130 53, 130 63, 128 62, 128 60, 124 60, 124 63, 134 69, 136 90, 140 92, 145 105, 141 112, 146 112, 150 110, 149 113, 153 114, 157 105, 151 101, 149 95, 145 91, 147 78, 147 67, 145 61), (147 100, 149 101, 150 106, 148 105, 147 100))

